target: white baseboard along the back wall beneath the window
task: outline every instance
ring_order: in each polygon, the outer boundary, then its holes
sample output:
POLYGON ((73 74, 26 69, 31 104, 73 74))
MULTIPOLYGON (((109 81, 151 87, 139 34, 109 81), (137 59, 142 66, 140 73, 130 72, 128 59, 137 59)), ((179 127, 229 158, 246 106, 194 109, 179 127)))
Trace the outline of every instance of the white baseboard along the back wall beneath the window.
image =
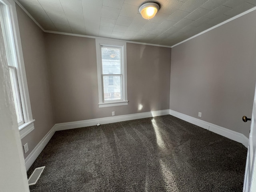
POLYGON ((135 113, 135 114, 129 114, 129 115, 111 116, 111 117, 104 117, 104 118, 97 118, 97 119, 90 119, 90 120, 83 120, 83 121, 58 123, 58 124, 55 124, 55 130, 60 131, 60 130, 94 126, 97 123, 108 124, 108 123, 115 123, 115 122, 148 118, 148 117, 154 117, 154 116, 162 116, 162 115, 169 115, 169 109, 144 112, 144 113, 135 113))

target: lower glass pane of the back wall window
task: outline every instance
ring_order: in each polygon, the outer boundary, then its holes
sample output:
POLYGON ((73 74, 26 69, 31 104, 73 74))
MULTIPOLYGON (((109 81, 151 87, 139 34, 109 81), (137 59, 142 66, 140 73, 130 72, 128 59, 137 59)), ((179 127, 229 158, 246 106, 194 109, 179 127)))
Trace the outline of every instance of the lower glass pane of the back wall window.
POLYGON ((122 88, 121 88, 121 76, 103 76, 103 96, 104 101, 121 100, 122 88), (109 85, 109 78, 113 77, 113 85, 109 85))

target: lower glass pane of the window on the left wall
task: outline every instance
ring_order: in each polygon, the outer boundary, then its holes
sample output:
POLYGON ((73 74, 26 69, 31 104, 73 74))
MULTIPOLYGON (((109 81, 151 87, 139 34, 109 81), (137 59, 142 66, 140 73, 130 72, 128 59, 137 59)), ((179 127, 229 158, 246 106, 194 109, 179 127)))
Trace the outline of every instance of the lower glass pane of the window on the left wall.
POLYGON ((23 113, 22 113, 22 107, 20 102, 20 92, 18 89, 18 80, 17 80, 15 68, 9 67, 9 73, 10 73, 12 96, 14 100, 17 121, 18 121, 18 125, 21 125, 24 123, 24 121, 23 121, 23 113))

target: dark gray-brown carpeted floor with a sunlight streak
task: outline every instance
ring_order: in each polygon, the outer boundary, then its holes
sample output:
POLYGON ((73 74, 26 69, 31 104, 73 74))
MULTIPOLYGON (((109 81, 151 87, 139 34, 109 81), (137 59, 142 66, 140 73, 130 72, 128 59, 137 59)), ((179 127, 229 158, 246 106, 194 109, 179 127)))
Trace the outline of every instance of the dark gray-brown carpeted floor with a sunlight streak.
POLYGON ((58 131, 30 192, 242 192, 246 152, 170 115, 58 131))

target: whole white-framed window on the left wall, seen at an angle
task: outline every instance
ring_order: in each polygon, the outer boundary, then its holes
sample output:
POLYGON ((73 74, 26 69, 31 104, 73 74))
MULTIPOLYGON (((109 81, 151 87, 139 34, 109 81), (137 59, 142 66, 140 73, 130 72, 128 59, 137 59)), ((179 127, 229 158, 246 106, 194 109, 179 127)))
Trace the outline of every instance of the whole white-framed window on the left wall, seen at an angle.
POLYGON ((34 130, 26 72, 22 57, 20 33, 14 0, 0 0, 0 35, 4 39, 11 90, 20 137, 24 138, 34 130))

